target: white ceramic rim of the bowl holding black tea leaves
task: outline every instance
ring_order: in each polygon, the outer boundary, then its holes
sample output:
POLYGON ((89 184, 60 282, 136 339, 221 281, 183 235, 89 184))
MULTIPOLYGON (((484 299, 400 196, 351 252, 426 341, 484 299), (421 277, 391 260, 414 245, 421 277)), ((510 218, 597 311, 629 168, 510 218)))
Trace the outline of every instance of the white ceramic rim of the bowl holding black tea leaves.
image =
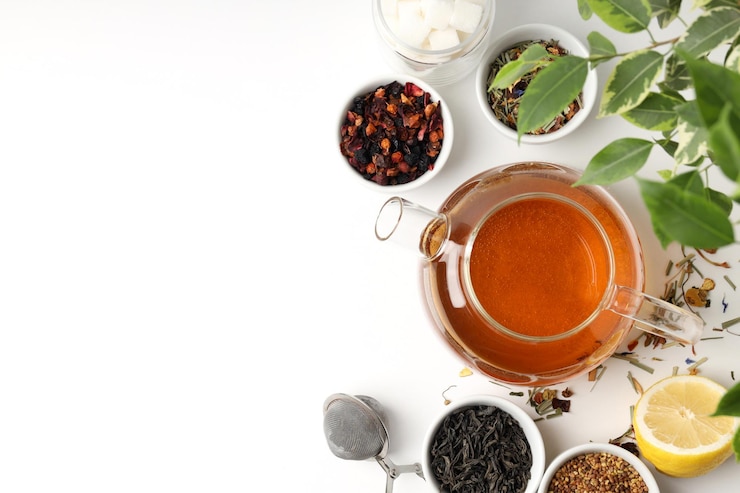
POLYGON ((513 402, 504 399, 503 397, 497 397, 493 395, 470 395, 460 399, 456 399, 450 405, 445 408, 445 411, 441 413, 437 419, 429 427, 426 436, 424 438, 424 446, 422 448, 422 461, 421 466, 424 471, 424 477, 427 484, 433 491, 440 491, 440 484, 434 477, 430 465, 430 449, 434 441, 437 429, 442 424, 444 419, 458 411, 461 408, 468 406, 492 406, 500 409, 511 415, 522 427, 524 434, 529 442, 529 447, 532 451, 532 468, 530 470, 531 476, 527 483, 527 488, 524 493, 535 493, 537 487, 540 484, 540 479, 545 470, 545 444, 542 440, 542 434, 537 428, 534 420, 519 406, 513 402))

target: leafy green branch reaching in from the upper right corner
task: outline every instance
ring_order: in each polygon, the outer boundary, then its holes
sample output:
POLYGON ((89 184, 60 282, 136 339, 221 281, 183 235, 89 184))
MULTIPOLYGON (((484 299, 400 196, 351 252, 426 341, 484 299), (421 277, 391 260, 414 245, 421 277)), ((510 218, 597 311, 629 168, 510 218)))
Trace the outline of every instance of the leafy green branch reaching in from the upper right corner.
POLYGON ((553 60, 533 50, 524 61, 523 54, 505 65, 500 71, 505 76, 493 83, 512 84, 539 70, 519 104, 521 137, 551 120, 582 90, 587 68, 617 60, 597 117, 619 116, 655 135, 607 144, 577 185, 609 185, 635 177, 658 148, 673 158, 673 169, 659 172, 662 181, 636 178, 656 236, 663 247, 675 241, 712 249, 736 241, 730 215, 734 203, 740 203, 740 4, 693 0, 693 5, 701 12, 687 24, 679 16, 681 0, 578 0, 583 19, 595 14, 616 31, 648 33, 651 43, 618 52, 604 34, 592 32, 587 58, 553 60), (653 20, 661 28, 680 22, 685 30, 657 41, 648 29, 653 20), (722 61, 713 61, 722 49, 722 61), (715 167, 735 183, 731 195, 709 186, 708 171, 715 167))

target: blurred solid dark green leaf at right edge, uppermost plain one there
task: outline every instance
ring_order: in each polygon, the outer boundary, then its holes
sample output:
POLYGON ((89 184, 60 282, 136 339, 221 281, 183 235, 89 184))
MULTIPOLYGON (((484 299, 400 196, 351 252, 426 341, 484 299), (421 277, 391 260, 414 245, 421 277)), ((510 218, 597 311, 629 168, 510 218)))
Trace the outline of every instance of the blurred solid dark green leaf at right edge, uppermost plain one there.
POLYGON ((740 74, 708 60, 684 56, 696 89, 696 101, 704 125, 714 125, 725 105, 731 108, 730 121, 740 127, 740 74))

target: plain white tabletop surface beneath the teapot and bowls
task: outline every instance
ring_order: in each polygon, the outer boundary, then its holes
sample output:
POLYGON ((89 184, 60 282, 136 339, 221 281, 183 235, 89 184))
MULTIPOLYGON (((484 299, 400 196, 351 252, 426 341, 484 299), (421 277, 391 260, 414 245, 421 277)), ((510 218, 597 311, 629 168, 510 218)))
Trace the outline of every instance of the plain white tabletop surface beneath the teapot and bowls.
MULTIPOLYGON (((496 32, 549 22, 585 40, 603 27, 575 0, 497 4, 496 32)), ((624 49, 646 42, 607 34, 624 49)), ((0 2, 0 490, 379 493, 376 463, 327 447, 330 394, 384 405, 399 464, 421 459, 445 389, 525 406, 460 376, 426 318, 417 260, 374 237, 387 195, 337 171, 344 98, 387 72, 369 0, 0 2)), ((455 146, 407 198, 436 208, 492 166, 583 168, 615 137, 641 135, 592 115, 562 141, 518 147, 486 122, 472 79, 438 88, 455 146)), ((670 166, 656 150, 640 175, 670 166)), ((661 250, 632 180, 610 190, 660 295, 681 253, 661 250)), ((740 315, 722 280, 740 285, 740 254, 719 256, 730 271, 697 264, 717 280, 708 327, 740 315)), ((638 348, 653 374, 610 359, 597 386, 569 382, 571 412, 539 423, 548 460, 627 429, 628 371, 646 387, 707 356, 700 373, 731 385, 740 340, 707 328, 718 334, 696 354, 638 348)), ((728 491, 740 466, 657 480, 728 491)), ((405 475, 396 491, 426 486, 405 475)))

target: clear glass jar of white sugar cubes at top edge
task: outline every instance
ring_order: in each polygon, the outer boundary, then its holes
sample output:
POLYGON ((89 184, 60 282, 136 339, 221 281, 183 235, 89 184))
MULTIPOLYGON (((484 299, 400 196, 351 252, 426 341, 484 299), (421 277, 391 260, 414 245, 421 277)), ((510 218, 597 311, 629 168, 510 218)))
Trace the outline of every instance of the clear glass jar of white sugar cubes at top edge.
POLYGON ((373 0, 388 65, 436 86, 458 82, 480 64, 494 12, 493 0, 373 0))

